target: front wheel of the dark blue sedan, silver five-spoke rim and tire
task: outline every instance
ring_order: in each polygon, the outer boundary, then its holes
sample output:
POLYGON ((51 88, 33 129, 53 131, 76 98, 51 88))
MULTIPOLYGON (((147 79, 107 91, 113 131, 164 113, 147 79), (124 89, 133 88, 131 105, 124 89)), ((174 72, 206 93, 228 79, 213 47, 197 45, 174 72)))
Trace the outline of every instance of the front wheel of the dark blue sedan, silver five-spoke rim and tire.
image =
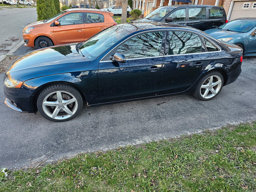
POLYGON ((75 118, 82 110, 82 106, 83 99, 80 92, 67 84, 48 86, 40 92, 37 99, 37 108, 40 114, 55 122, 75 118))

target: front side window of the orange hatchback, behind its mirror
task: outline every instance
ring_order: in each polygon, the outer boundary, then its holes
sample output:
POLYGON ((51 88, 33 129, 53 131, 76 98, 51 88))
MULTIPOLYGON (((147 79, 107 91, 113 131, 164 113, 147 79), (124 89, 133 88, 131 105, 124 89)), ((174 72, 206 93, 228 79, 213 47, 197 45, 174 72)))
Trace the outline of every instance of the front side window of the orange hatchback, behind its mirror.
POLYGON ((83 13, 70 13, 59 18, 60 25, 83 24, 83 13))

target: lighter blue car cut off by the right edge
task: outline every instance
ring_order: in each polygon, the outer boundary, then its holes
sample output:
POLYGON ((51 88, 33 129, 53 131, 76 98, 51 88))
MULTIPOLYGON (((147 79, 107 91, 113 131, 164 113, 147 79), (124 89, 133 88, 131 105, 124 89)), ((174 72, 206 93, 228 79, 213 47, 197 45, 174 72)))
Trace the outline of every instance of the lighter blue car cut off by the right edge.
POLYGON ((222 42, 240 46, 244 56, 256 56, 256 18, 238 18, 204 32, 222 42))

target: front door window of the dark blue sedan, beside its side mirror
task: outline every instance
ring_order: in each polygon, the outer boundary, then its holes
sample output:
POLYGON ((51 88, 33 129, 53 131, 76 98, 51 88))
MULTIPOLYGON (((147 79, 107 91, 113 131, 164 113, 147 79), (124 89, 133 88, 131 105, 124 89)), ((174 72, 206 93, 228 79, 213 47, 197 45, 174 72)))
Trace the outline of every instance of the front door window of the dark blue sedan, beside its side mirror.
POLYGON ((126 59, 159 56, 163 32, 140 34, 118 47, 117 52, 124 54, 126 59))

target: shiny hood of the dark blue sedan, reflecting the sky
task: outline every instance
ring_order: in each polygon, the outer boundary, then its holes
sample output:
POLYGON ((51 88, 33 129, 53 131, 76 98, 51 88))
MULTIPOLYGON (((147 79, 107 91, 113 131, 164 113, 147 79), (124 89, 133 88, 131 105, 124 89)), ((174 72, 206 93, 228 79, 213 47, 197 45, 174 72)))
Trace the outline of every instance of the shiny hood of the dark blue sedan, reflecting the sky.
POLYGON ((79 67, 90 62, 78 54, 75 45, 53 46, 21 56, 6 70, 6 76, 26 81, 40 76, 79 71, 79 67))

